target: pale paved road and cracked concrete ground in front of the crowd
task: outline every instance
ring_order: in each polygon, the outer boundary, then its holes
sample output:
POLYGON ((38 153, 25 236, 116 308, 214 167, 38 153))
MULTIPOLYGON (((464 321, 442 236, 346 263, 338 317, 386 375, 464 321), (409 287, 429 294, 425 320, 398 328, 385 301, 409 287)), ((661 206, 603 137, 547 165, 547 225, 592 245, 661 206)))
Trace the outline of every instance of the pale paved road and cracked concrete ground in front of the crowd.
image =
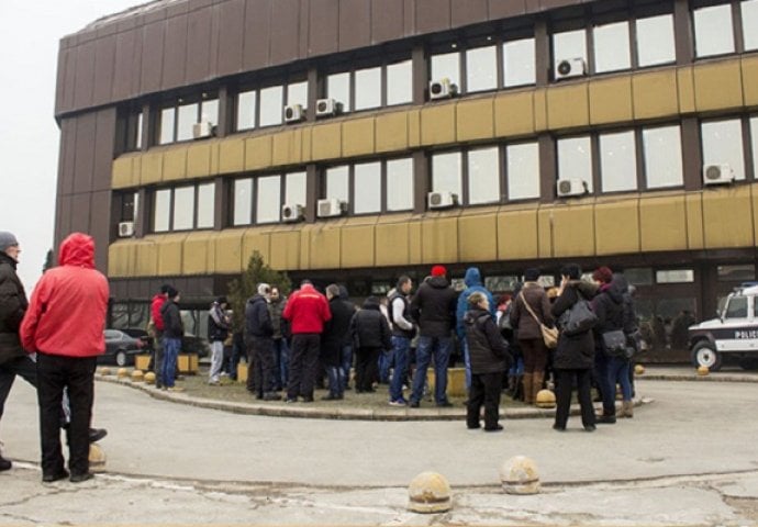
POLYGON ((33 391, 3 417, 0 524, 758 525, 758 383, 638 381, 634 419, 558 434, 546 418, 503 434, 459 421, 370 422, 238 415, 98 383, 108 473, 43 485, 33 391), (525 455, 543 493, 510 496, 500 464, 525 455), (19 462, 20 461, 20 462, 19 462), (454 508, 405 512, 419 472, 448 478, 454 508))

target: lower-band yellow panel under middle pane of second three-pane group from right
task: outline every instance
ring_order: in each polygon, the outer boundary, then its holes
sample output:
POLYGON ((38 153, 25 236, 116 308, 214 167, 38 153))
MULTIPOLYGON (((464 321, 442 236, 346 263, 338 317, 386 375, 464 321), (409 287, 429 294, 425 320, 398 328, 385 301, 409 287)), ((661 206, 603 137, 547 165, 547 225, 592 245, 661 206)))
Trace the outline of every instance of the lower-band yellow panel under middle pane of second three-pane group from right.
POLYGON ((636 199, 598 203, 594 209, 595 253, 639 251, 639 208, 636 199))

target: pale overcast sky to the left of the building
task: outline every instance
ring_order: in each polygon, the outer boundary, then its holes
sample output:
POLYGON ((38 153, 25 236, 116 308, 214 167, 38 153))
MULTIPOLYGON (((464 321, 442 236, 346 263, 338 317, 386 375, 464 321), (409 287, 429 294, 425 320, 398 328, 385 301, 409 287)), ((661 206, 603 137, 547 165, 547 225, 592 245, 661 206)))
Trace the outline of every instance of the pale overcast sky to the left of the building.
POLYGON ((58 42, 100 16, 143 3, 147 1, 0 0, 0 231, 19 238, 19 276, 27 294, 53 246, 58 42))

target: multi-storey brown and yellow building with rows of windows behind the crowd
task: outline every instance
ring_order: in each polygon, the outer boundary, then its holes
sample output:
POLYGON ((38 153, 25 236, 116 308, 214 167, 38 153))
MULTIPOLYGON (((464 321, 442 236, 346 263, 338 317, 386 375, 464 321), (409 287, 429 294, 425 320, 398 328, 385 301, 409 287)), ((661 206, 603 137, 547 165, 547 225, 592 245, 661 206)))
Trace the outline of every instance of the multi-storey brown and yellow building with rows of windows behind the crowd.
POLYGON ((758 0, 158 0, 60 43, 56 239, 132 324, 254 250, 356 296, 607 265, 702 318, 756 278, 756 52, 758 0))

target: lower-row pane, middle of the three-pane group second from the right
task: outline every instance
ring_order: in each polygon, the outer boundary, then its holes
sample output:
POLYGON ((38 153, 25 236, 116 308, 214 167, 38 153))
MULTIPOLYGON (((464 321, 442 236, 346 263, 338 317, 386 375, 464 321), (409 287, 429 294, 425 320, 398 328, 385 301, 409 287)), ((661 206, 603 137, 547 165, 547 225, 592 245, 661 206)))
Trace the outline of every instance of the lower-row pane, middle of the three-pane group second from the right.
POLYGON ((600 175, 603 192, 637 188, 634 132, 600 135, 600 175))

